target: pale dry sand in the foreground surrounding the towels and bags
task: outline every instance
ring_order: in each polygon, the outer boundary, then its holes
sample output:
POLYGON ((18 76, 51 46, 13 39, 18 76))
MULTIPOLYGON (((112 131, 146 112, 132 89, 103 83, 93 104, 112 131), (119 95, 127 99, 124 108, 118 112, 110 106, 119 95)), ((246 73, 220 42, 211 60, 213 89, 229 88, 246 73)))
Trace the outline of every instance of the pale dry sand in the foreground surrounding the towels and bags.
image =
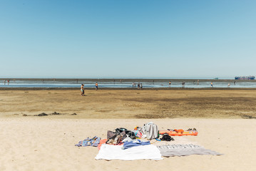
MULTIPOLYGON (((255 120, 245 119, 51 119, 3 118, 0 170, 255 170, 255 120), (153 121, 159 128, 197 128, 188 142, 224 155, 164 157, 164 160, 95 160, 97 147, 79 140, 118 127, 133 129, 153 121)), ((175 137, 174 137, 175 138, 175 137)))

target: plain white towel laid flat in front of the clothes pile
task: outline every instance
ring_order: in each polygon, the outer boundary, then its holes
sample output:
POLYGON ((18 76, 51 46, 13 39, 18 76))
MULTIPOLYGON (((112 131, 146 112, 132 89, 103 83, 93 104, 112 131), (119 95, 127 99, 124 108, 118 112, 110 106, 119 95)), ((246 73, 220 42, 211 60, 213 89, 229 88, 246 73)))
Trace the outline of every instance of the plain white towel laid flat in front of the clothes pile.
POLYGON ((123 145, 101 145, 96 160, 162 160, 160 150, 155 145, 140 145, 122 150, 123 145))

